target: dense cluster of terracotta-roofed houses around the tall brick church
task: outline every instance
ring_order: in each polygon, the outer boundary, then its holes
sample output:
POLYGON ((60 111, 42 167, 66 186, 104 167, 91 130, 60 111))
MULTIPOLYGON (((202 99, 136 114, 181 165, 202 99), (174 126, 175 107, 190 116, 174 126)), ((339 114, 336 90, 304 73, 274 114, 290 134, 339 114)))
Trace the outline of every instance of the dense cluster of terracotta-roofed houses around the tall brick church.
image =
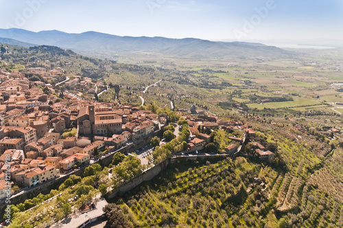
MULTIPOLYGON (((47 73, 38 68, 32 71, 47 73)), ((88 164, 106 148, 139 140, 167 122, 166 115, 138 107, 67 95, 54 102, 56 95, 43 93, 20 73, 1 70, 0 82, 0 199, 7 186, 6 157, 11 158, 12 183, 32 187, 88 164), (76 135, 62 137, 71 128, 78 129, 76 135)))

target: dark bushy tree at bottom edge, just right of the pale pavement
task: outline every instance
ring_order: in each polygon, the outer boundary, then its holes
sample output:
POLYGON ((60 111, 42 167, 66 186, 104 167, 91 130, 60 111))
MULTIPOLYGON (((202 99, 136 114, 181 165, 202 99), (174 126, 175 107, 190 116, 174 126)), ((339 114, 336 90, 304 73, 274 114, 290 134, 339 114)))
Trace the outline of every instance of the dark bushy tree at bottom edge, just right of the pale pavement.
POLYGON ((131 228, 131 223, 126 220, 121 207, 115 203, 109 203, 103 208, 110 227, 113 228, 131 228))

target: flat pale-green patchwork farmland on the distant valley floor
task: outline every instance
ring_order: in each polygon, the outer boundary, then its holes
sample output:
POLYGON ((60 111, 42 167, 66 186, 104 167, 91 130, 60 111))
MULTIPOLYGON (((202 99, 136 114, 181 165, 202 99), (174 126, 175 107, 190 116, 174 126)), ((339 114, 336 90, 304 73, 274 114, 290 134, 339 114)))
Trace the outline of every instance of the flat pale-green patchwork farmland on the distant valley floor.
POLYGON ((331 84, 343 82, 340 68, 343 54, 337 50, 292 52, 298 54, 293 59, 179 59, 149 55, 134 56, 132 60, 119 58, 118 62, 161 71, 153 78, 162 78, 163 83, 149 89, 150 95, 143 95, 150 97, 147 98, 149 102, 156 100, 156 104, 167 105, 164 99, 169 98, 174 99, 176 108, 196 104, 200 108, 206 106, 209 112, 217 115, 241 111, 263 113, 265 109, 334 113, 331 105, 343 102, 343 93, 331 84), (252 94, 265 99, 290 95, 293 100, 255 102, 250 100, 252 94), (239 110, 239 106, 243 110, 239 110))

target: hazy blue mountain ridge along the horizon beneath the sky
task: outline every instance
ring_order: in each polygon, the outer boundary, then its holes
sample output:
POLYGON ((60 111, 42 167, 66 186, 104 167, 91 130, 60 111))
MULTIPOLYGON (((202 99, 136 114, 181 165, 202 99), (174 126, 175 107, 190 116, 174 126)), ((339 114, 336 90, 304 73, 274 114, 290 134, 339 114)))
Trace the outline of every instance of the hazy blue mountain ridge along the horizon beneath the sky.
POLYGON ((54 45, 95 57, 100 54, 113 55, 137 52, 171 55, 181 58, 221 58, 225 56, 281 58, 293 55, 292 52, 261 43, 213 42, 198 38, 115 36, 99 32, 69 34, 57 30, 30 32, 16 28, 0 29, 0 37, 37 45, 54 45))

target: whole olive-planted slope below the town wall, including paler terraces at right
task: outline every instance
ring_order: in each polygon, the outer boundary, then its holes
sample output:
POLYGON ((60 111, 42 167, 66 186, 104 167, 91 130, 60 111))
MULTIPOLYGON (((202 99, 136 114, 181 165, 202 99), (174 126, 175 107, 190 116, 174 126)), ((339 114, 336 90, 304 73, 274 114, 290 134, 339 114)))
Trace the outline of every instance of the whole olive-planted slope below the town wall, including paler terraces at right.
MULTIPOLYGON (((266 120, 282 126, 250 119, 253 140, 275 145, 279 163, 178 161, 111 203, 134 227, 342 227, 343 150, 314 131, 327 124, 314 118, 295 128, 281 117, 266 120)), ((229 135, 235 133, 219 130, 214 140, 226 146, 229 135)))

